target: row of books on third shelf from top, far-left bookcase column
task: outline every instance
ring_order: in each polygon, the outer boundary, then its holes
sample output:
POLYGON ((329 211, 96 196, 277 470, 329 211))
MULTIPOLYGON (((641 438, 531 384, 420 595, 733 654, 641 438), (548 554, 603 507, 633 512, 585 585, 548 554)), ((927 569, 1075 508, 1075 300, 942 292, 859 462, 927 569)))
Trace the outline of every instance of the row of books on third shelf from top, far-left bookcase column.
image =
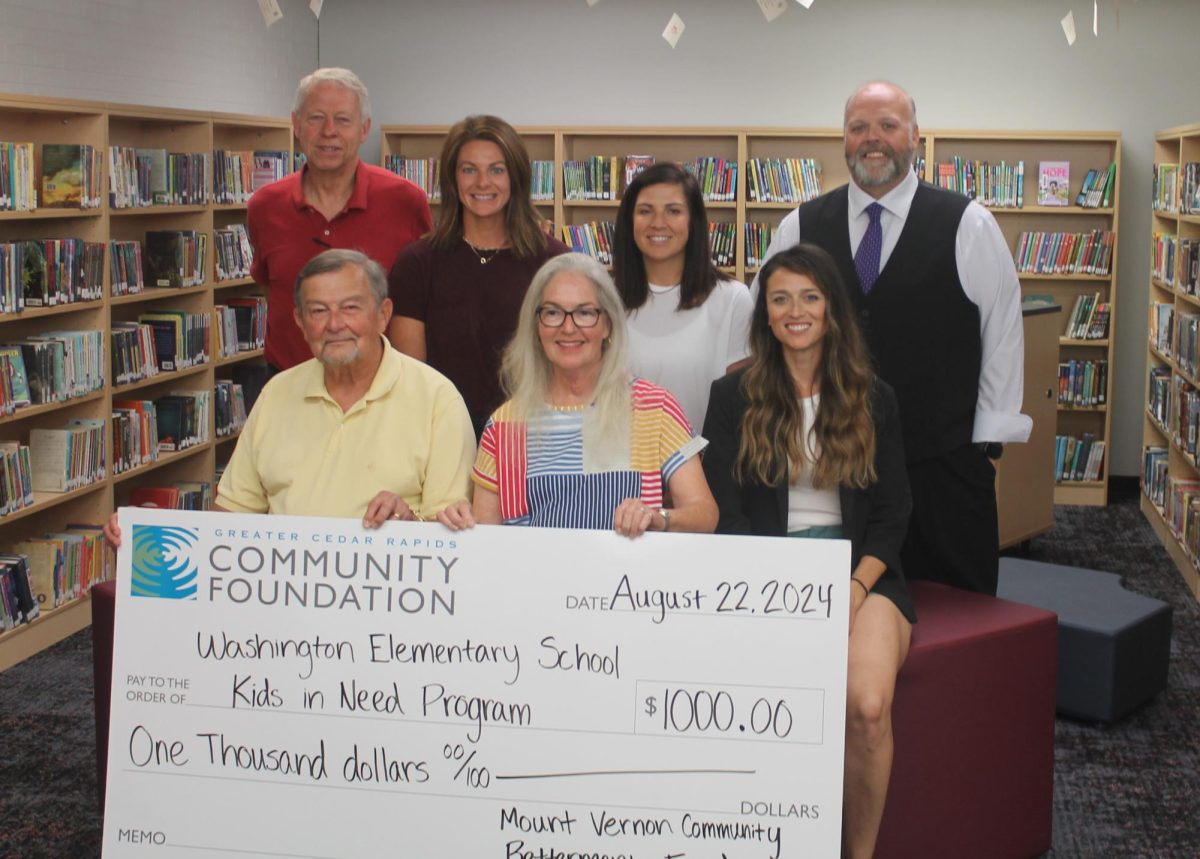
POLYGON ((0 346, 14 408, 60 403, 104 386, 100 331, 47 331, 0 346))

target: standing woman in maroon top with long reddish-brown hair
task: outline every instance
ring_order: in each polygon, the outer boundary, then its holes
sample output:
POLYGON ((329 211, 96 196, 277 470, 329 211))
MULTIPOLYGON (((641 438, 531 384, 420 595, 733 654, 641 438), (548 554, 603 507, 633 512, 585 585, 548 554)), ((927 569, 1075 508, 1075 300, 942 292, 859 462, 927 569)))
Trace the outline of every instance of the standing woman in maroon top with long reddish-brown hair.
POLYGON ((505 397, 497 371, 534 272, 570 248, 546 235, 529 199, 521 136, 497 116, 468 116, 442 146, 433 232, 409 245, 389 281, 392 346, 454 382, 475 435, 505 397))

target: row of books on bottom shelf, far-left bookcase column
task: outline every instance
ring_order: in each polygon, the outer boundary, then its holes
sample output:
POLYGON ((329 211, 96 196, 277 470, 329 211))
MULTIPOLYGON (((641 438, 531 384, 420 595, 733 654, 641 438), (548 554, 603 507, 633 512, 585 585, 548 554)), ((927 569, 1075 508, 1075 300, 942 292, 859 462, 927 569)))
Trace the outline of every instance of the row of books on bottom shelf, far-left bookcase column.
POLYGON ((0 627, 29 623, 76 600, 116 570, 116 553, 96 524, 68 524, 0 554, 0 627))

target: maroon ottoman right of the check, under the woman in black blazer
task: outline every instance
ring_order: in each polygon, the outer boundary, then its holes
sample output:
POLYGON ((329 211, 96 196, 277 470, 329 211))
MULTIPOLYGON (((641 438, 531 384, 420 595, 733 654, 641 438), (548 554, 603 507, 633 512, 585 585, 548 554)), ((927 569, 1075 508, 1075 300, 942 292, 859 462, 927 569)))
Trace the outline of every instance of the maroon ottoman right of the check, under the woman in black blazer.
POLYGON ((877 859, 1028 859, 1050 849, 1057 617, 910 582, 877 859))

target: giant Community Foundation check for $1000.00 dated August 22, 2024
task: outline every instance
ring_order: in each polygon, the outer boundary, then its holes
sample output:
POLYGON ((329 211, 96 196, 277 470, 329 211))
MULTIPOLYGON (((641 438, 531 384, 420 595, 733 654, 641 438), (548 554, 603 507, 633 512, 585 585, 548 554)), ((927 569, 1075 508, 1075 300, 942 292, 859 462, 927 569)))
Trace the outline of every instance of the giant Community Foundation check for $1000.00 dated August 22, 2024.
POLYGON ((839 853, 844 541, 120 524, 108 859, 839 853))

